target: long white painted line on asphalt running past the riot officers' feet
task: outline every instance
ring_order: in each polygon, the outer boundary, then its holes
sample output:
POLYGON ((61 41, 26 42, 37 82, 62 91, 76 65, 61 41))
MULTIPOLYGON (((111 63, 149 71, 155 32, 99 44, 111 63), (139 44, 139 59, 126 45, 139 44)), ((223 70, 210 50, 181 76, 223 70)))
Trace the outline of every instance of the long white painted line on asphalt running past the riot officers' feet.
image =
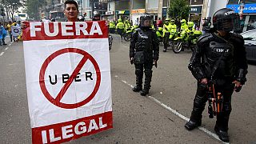
MULTIPOLYGON (((115 77, 118 78, 117 75, 115 75, 115 77)), ((130 83, 128 83, 128 82, 126 82, 126 81, 124 81, 124 80, 121 80, 121 81, 124 82, 126 85, 132 87, 132 88, 134 87, 134 86, 132 86, 130 83)), ((170 106, 166 106, 164 103, 158 101, 158 99, 156 99, 156 98, 154 98, 154 97, 152 97, 152 96, 150 96, 150 95, 148 96, 148 98, 150 98, 150 99, 153 100, 154 102, 157 102, 160 106, 162 106, 162 107, 165 108, 166 110, 170 110, 171 113, 177 115, 179 118, 182 118, 182 119, 185 120, 186 122, 188 122, 188 121, 190 120, 190 118, 186 118, 184 115, 179 114, 178 111, 176 111, 176 110, 170 108, 170 106)), ((211 137, 217 139, 219 142, 222 142, 222 140, 220 140, 220 139, 218 138, 218 135, 212 133, 210 130, 207 130, 206 128, 204 128, 204 127, 202 127, 202 126, 198 126, 198 129, 199 129, 199 130, 202 130, 203 132, 205 132, 206 134, 210 135, 211 137)), ((228 143, 228 142, 222 142, 222 143, 228 143)))

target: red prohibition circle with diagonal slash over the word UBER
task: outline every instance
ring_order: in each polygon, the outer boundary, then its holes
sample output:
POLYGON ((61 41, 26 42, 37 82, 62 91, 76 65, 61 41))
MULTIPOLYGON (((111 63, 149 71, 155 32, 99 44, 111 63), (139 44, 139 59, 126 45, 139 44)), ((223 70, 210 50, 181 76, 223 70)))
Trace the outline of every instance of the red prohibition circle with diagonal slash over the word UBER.
POLYGON ((64 48, 62 50, 58 50, 58 51, 54 52, 53 54, 50 54, 50 56, 48 58, 46 58, 45 62, 43 62, 41 70, 40 70, 40 74, 39 74, 39 84, 40 84, 42 93, 45 95, 45 97, 48 99, 49 102, 53 103, 55 106, 62 107, 64 109, 75 109, 75 108, 78 108, 78 107, 83 106, 86 103, 90 102, 90 100, 92 100, 94 98, 95 94, 97 93, 98 88, 100 86, 100 82, 101 82, 101 72, 99 70, 99 66, 98 66, 98 63, 96 62, 96 60, 90 54, 86 53, 86 51, 76 49, 76 48, 64 48), (45 83, 46 68, 54 58, 58 57, 61 54, 65 54, 65 53, 82 54, 83 58, 78 63, 78 66, 74 69, 73 73, 70 75, 70 78, 67 80, 67 82, 62 87, 62 90, 60 90, 60 92, 58 93, 58 96, 56 98, 54 98, 50 95, 50 93, 46 89, 46 83, 45 83), (82 102, 78 102, 78 103, 74 103, 74 104, 66 104, 66 103, 60 102, 62 100, 63 95, 66 93, 66 90, 68 90, 69 86, 74 81, 74 78, 79 73, 79 71, 82 69, 82 66, 84 66, 84 64, 86 63, 87 60, 90 60, 90 62, 92 62, 92 64, 94 65, 94 68, 96 70, 96 75, 97 75, 96 85, 94 86, 93 92, 90 94, 90 96, 88 98, 84 99, 82 102))

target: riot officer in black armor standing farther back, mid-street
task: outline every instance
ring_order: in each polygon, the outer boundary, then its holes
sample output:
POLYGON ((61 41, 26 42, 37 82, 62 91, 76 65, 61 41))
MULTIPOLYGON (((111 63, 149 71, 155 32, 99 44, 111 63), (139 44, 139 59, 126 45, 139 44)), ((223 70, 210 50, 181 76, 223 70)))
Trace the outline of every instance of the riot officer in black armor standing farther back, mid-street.
POLYGON ((150 14, 144 13, 140 17, 140 26, 132 34, 130 40, 130 63, 135 66, 136 86, 134 92, 142 90, 143 69, 145 72, 144 89, 140 92, 142 96, 149 94, 150 82, 152 78, 152 67, 157 67, 159 56, 159 43, 154 30, 151 26, 150 14))

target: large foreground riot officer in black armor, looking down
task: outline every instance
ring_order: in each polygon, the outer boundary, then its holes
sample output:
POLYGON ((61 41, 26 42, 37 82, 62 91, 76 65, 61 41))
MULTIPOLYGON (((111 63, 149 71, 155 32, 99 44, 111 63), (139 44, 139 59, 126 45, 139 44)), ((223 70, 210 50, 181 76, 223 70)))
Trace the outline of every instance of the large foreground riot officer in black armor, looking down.
POLYGON ((244 40, 240 34, 231 33, 238 22, 234 10, 223 8, 213 17, 214 30, 198 39, 196 50, 190 59, 189 69, 198 80, 194 107, 187 130, 202 123, 202 111, 206 106, 207 84, 214 82, 215 93, 222 93, 222 110, 217 113, 214 127, 223 142, 229 142, 228 122, 231 112, 231 95, 241 90, 246 82, 247 62, 244 40), (201 62, 202 58, 202 62, 201 62))

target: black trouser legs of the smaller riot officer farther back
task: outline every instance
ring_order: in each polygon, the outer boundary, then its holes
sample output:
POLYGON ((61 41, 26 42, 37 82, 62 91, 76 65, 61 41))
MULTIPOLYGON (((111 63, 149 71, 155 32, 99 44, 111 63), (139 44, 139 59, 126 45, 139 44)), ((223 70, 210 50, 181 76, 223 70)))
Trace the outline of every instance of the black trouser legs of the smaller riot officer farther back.
POLYGON ((143 70, 145 73, 144 89, 150 90, 150 82, 152 78, 153 62, 145 62, 144 64, 134 64, 136 74, 136 85, 142 87, 143 70))

